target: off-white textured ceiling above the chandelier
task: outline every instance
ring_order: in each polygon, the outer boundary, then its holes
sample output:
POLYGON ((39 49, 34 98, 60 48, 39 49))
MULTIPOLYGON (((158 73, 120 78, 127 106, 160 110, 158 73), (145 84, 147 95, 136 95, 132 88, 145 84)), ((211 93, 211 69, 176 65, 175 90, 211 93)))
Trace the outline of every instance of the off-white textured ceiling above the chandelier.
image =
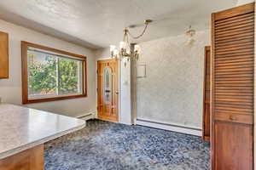
MULTIPOLYGON (((211 13, 237 0, 2 0, 0 18, 84 47, 102 48, 122 39, 125 26, 154 20, 148 41, 182 34, 189 25, 209 28, 211 13)), ((143 27, 131 29, 138 34, 143 27)))

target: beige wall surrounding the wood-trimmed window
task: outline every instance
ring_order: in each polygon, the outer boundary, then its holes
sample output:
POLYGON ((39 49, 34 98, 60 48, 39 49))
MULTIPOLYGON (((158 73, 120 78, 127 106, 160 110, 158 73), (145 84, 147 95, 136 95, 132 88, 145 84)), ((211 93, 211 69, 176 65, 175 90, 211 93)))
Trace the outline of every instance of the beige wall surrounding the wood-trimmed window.
POLYGON ((26 105, 28 107, 52 111, 67 116, 79 116, 90 111, 96 111, 96 80, 95 54, 87 48, 64 42, 54 37, 10 24, 0 20, 0 31, 9 33, 9 79, 0 80, 0 97, 3 102, 21 104, 21 56, 20 41, 38 43, 51 48, 65 50, 74 54, 86 55, 88 71, 88 97, 81 99, 67 99, 53 102, 26 105))

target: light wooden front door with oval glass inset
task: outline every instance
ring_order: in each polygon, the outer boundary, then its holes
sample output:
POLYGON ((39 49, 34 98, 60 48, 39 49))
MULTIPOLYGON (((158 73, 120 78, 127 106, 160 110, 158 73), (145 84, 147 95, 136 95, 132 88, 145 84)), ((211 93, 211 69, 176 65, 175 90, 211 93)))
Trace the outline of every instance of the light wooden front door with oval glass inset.
POLYGON ((119 61, 116 59, 97 62, 98 118, 119 121, 119 61))

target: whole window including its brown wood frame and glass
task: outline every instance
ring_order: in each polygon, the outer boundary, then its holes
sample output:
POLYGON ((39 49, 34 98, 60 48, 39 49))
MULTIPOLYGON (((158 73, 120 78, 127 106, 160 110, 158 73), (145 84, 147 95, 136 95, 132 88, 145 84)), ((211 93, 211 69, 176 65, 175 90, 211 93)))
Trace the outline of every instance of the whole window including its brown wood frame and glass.
POLYGON ((86 97, 86 57, 21 42, 23 104, 86 97))

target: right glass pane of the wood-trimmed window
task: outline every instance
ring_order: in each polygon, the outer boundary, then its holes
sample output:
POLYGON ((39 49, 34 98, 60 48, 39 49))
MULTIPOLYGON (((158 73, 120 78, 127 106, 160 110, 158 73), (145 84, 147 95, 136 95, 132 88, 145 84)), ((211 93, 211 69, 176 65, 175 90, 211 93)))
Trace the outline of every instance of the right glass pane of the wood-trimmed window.
POLYGON ((82 61, 58 59, 59 94, 82 94, 82 61))

